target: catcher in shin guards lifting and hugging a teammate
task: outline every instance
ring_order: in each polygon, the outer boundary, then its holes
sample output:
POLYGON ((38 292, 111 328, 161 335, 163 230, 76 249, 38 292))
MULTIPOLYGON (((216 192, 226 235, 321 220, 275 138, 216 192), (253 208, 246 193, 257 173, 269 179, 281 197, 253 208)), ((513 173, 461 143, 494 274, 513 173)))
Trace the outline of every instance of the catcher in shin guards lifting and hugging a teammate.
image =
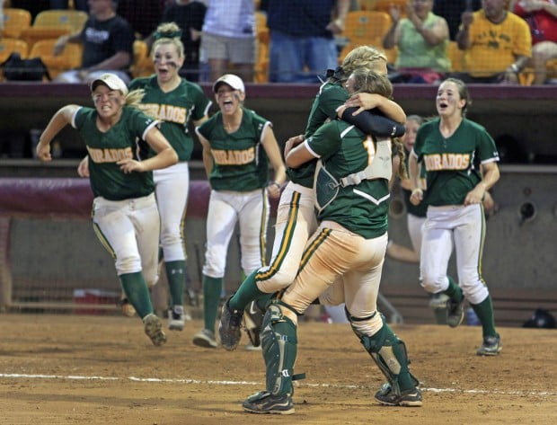
MULTIPOLYGON (((392 90, 382 75, 367 73, 365 82, 367 91, 392 90)), ((387 244, 391 144, 390 137, 374 139, 334 120, 285 151, 290 167, 320 159, 315 197, 321 225, 305 244, 296 279, 267 307, 261 330, 267 388, 243 403, 246 412, 294 413, 297 316, 340 278, 352 330, 391 384, 376 399, 387 405, 421 405, 405 345, 376 306, 387 244), (350 179, 362 172, 366 176, 360 182, 350 179)))

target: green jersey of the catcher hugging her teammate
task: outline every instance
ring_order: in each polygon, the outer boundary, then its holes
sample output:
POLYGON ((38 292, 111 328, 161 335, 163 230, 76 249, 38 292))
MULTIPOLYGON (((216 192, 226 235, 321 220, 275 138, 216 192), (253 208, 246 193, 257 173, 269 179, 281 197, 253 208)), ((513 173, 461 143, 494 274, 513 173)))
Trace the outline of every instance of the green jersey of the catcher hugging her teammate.
MULTIPOLYGON (((385 143, 385 142, 384 142, 385 143)), ((391 141, 388 140, 390 153, 391 141)), ((323 167, 337 181, 358 173, 372 164, 376 157, 376 142, 346 121, 334 120, 324 124, 307 139, 308 148, 321 158, 323 167)), ((390 155, 386 158, 390 164, 390 155)), ((316 196, 323 188, 316 187, 316 196)), ((318 214, 319 220, 331 220, 366 239, 384 235, 387 231, 389 182, 385 178, 363 180, 358 185, 339 186, 338 194, 318 214)))

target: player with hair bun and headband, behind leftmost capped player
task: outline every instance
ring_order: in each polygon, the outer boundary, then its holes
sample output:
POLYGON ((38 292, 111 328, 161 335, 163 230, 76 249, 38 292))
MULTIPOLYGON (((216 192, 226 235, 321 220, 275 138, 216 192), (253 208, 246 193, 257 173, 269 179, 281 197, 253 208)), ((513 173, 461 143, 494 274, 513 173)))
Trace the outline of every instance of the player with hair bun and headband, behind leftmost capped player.
POLYGON ((181 331, 187 259, 183 226, 190 190, 188 161, 193 151, 188 126, 190 120, 196 126, 208 120, 211 102, 198 84, 190 83, 178 74, 185 59, 178 25, 174 22, 159 25, 152 52, 155 75, 133 80, 129 89, 145 90, 140 108, 162 121, 161 131, 178 154, 178 164, 156 170, 153 175, 161 215, 164 269, 170 289, 168 326, 171 330, 181 331))

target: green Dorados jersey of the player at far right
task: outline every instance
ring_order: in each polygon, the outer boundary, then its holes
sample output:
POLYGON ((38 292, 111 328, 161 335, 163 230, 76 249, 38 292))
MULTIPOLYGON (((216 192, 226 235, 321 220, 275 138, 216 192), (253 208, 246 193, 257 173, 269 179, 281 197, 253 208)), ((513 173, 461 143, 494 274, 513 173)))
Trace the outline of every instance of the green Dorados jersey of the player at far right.
POLYGON ((445 138, 439 131, 440 119, 418 130, 414 154, 426 169, 427 205, 462 205, 466 194, 482 180, 480 165, 499 161, 495 142, 481 125, 462 120, 455 133, 445 138))

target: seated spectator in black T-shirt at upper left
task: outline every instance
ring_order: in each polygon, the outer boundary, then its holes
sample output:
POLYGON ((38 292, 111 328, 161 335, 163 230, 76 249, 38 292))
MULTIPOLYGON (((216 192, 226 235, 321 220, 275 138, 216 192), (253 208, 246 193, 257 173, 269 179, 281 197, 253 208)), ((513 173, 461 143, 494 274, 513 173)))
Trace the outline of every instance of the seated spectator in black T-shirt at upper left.
POLYGON ((134 31, 129 23, 116 13, 112 0, 89 0, 91 15, 84 29, 72 35, 61 36, 54 54, 59 54, 66 43, 81 42, 84 46, 80 69, 66 71, 57 76, 61 83, 91 82, 98 75, 111 71, 126 84, 128 68, 133 59, 134 31))

